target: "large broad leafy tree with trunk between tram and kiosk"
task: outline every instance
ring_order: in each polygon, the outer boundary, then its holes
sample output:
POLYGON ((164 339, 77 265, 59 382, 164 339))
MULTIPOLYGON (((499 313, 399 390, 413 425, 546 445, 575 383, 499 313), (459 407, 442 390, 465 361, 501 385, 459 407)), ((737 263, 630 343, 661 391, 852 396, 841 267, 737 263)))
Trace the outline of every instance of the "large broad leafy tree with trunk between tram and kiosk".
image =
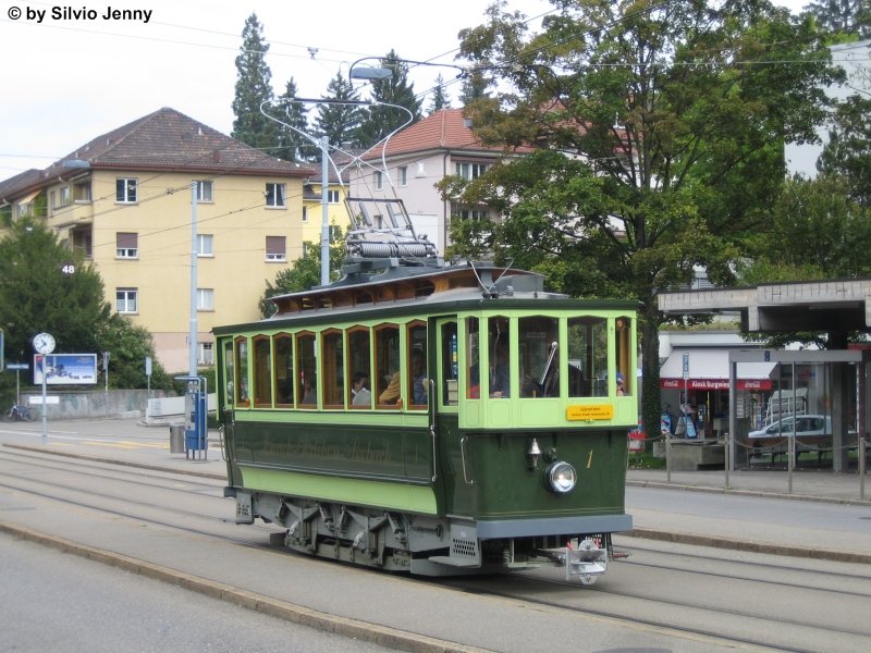
POLYGON ((462 54, 500 84, 466 107, 477 135, 540 149, 443 187, 500 211, 498 257, 575 296, 639 301, 643 421, 658 432, 657 292, 697 264, 734 282, 740 239, 784 180, 783 145, 814 138, 837 74, 810 22, 768 2, 554 4, 537 35, 500 4, 461 33, 462 54))

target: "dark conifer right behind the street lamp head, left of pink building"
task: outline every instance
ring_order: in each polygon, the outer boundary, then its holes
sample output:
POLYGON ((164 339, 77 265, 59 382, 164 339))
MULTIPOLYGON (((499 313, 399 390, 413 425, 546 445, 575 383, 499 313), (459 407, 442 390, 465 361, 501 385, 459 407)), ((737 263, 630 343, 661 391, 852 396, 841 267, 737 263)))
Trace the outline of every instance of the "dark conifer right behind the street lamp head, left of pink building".
POLYGON ((415 85, 408 82, 408 64, 404 63, 394 50, 391 50, 381 59, 381 67, 393 71, 393 75, 387 79, 372 82, 372 100, 404 107, 408 113, 391 107, 378 104, 370 107, 365 113, 356 138, 363 147, 375 145, 391 132, 406 124, 409 119, 412 124, 421 119, 421 100, 415 95, 415 85))

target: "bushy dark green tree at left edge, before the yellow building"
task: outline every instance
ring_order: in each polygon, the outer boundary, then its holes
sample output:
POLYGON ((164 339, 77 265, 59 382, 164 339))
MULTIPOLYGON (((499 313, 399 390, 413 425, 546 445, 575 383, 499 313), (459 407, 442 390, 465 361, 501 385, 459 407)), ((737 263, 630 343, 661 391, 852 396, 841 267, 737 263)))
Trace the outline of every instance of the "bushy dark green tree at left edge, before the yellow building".
MULTIPOLYGON (((32 360, 30 341, 45 331, 54 336, 59 353, 110 352, 112 386, 146 386, 150 335, 112 311, 100 275, 40 220, 15 221, 0 241, 0 324, 10 359, 32 360), (138 375, 127 373, 128 365, 138 366, 138 375)), ((157 362, 152 386, 169 387, 157 362)))

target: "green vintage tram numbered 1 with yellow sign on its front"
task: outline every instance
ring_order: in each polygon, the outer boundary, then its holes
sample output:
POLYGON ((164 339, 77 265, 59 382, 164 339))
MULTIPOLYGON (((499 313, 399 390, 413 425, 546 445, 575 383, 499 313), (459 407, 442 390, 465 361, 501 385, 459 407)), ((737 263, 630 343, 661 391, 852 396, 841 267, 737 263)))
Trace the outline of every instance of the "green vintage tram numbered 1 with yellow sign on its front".
POLYGON ((387 570, 594 581, 631 528, 636 305, 367 237, 340 281, 214 330, 236 520, 387 570))

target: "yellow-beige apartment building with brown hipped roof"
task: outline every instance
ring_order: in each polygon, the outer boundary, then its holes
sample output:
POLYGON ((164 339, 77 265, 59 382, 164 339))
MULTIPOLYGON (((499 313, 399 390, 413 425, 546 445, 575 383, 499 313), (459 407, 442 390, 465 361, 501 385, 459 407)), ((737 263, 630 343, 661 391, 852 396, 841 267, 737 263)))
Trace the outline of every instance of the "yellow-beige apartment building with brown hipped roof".
POLYGON ((259 319, 266 281, 319 241, 320 213, 315 229, 303 210, 315 173, 164 108, 0 183, 0 211, 45 217, 84 250, 106 300, 151 332, 168 371, 184 372, 192 269, 197 360, 209 365, 211 329, 259 319))

